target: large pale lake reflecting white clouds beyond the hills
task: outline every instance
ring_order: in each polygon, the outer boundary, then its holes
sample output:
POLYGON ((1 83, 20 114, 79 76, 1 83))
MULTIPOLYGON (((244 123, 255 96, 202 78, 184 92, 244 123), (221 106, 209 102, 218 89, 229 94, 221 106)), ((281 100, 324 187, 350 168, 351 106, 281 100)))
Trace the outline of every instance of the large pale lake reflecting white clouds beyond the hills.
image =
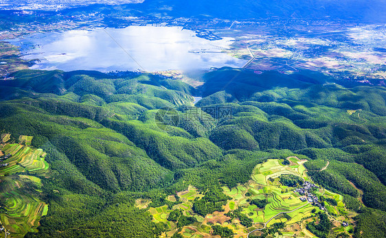
POLYGON ((26 60, 41 60, 32 69, 153 72, 242 67, 247 62, 222 52, 232 38, 206 40, 182 27, 71 30, 35 34, 12 43, 21 46, 26 60))

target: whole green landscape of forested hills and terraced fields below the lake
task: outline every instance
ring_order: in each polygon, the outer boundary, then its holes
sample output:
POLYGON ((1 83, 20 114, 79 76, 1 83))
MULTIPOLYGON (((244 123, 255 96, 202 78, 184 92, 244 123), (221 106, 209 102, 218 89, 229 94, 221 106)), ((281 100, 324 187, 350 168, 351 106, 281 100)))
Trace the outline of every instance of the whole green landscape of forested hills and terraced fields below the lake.
POLYGON ((19 154, 0 169, 5 181, 19 176, 9 188, 23 188, 28 176, 39 187, 31 190, 36 210, 16 206, 36 211, 25 218, 34 224, 2 219, 19 224, 14 234, 382 233, 369 222, 381 222, 386 208, 383 87, 227 67, 205 73, 196 88, 139 72, 12 77, 0 82, 0 126, 19 141, 3 154, 19 154))

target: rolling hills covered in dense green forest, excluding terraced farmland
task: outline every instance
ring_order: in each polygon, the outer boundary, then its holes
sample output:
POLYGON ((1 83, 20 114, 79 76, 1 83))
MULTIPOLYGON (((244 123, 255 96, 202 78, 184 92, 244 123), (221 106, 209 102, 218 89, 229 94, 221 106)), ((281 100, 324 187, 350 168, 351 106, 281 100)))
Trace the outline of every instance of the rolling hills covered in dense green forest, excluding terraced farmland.
POLYGON ((34 136, 52 173, 41 177, 48 214, 28 236, 157 237, 162 224, 135 199, 161 206, 188 185, 235 187, 257 163, 293 154, 308 158, 319 185, 350 198, 360 195, 350 182, 363 191, 356 236, 372 237, 365 217, 386 211, 383 87, 229 68, 207 73, 202 88, 148 73, 14 77, 0 81, 0 130, 34 136))

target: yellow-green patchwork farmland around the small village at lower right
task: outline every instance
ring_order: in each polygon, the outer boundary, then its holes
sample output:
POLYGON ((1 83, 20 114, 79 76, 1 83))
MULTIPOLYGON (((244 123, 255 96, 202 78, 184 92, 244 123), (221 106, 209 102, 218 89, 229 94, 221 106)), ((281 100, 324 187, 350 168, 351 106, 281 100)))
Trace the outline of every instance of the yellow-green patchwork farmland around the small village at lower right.
MULTIPOLYGON (((174 202, 173 206, 151 207, 148 211, 152 214, 154 222, 163 222, 168 226, 168 231, 162 237, 172 237, 175 233, 182 237, 212 237, 211 227, 219 225, 229 228, 234 233, 234 237, 246 238, 249 237, 249 233, 262 235, 261 230, 269 230, 277 224, 284 224, 281 230, 282 237, 313 237, 314 235, 306 229, 305 225, 316 219, 318 213, 324 213, 324 211, 313 202, 302 200, 304 195, 295 193, 294 187, 282 185, 280 176, 285 174, 310 181, 306 168, 303 166, 306 160, 299 160, 297 157, 288 157, 286 160, 289 165, 283 165, 283 159, 269 159, 266 163, 259 164, 253 169, 251 180, 244 185, 238 185, 232 189, 222 187, 223 193, 230 198, 222 206, 223 211, 214 211, 205 216, 195 213, 194 202, 203 198, 204 195, 191 186, 185 191, 168 197, 170 202, 174 202), (266 200, 266 205, 259 208, 253 204, 253 200, 266 200), (176 209, 180 209, 185 216, 195 217, 196 222, 177 228, 177 222, 168 220, 170 213, 176 209), (252 220, 252 226, 242 225, 239 218, 232 219, 228 215, 229 211, 240 211, 242 215, 252 220)), ((345 208, 343 196, 321 187, 317 187, 314 193, 319 197, 333 199, 337 202, 336 206, 324 202, 324 206, 335 226, 333 230, 347 233, 348 228, 343 228, 341 223, 352 223, 353 213, 345 208)), ((140 200, 138 202, 148 204, 150 201, 140 200)))

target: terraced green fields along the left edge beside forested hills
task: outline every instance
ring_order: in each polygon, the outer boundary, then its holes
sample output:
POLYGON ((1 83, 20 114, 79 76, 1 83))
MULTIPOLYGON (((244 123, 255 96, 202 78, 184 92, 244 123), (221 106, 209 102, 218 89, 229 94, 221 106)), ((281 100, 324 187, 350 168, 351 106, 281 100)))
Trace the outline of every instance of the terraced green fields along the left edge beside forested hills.
MULTIPOLYGON (((2 137, 2 141, 8 141, 10 138, 2 137)), ((0 200, 3 203, 0 219, 12 237, 23 237, 27 232, 37 232, 39 220, 48 212, 48 205, 38 198, 41 192, 39 188, 43 186, 41 179, 21 175, 24 172, 46 173, 49 168, 45 161, 46 153, 29 146, 32 136, 20 136, 19 141, 23 145, 5 144, 1 149, 4 154, 12 155, 1 161, 3 164, 8 163, 8 166, 0 168, 0 200)))

